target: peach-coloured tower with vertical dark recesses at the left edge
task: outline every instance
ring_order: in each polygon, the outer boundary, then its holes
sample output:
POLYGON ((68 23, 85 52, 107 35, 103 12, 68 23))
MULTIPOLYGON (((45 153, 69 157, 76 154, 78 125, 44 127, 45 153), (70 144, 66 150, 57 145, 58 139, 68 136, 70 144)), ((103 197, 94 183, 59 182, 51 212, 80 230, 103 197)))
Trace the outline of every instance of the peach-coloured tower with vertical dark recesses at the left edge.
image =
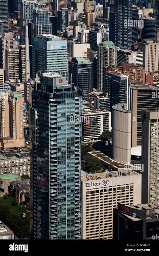
POLYGON ((17 92, 0 91, 0 142, 2 148, 24 147, 23 103, 17 92))

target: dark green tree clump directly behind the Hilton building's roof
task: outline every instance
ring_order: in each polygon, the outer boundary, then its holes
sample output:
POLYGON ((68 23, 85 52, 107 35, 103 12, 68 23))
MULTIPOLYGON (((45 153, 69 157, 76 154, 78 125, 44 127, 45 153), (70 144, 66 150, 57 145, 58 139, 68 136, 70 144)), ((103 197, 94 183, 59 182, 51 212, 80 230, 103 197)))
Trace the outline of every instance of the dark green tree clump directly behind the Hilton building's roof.
POLYGON ((83 170, 87 172, 97 173, 103 167, 101 160, 94 156, 85 155, 84 161, 83 170))

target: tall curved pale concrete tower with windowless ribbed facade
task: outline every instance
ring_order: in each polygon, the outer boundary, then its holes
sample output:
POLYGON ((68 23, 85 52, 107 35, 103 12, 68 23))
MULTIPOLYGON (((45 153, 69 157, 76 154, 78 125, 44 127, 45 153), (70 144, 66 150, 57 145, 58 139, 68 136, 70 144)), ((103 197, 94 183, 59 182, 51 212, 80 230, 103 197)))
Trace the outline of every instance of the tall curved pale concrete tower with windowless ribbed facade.
POLYGON ((125 103, 112 106, 112 157, 127 164, 131 159, 131 111, 125 108, 125 103))

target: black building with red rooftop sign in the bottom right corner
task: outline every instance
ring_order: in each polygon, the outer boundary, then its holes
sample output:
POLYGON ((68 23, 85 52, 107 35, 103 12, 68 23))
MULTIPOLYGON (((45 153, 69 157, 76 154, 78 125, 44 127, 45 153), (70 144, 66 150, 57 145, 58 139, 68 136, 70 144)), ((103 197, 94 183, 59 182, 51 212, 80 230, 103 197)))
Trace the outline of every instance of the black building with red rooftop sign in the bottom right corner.
POLYGON ((158 239, 159 208, 153 203, 125 205, 114 209, 115 240, 158 239))

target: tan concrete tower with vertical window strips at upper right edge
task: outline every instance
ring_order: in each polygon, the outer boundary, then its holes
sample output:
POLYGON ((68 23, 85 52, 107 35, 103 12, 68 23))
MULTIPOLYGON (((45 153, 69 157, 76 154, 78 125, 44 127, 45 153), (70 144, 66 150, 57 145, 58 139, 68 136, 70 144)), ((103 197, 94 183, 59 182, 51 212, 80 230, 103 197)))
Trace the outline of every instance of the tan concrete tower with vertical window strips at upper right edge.
POLYGON ((159 43, 154 43, 151 39, 141 40, 138 49, 143 52, 145 71, 158 71, 159 43))

